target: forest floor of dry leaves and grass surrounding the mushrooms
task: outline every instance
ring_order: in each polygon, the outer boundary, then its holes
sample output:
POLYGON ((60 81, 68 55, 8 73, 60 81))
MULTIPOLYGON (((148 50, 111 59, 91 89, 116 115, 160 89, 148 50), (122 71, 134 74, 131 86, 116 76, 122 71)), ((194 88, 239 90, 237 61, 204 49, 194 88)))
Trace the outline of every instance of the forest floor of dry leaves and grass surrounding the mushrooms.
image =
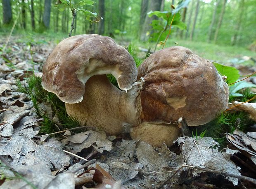
MULTIPOLYGON (((145 142, 132 141, 127 135, 107 137, 102 130, 87 128, 78 134, 67 129, 55 137, 40 134, 42 119, 34 112, 32 101, 17 91, 16 79, 26 85, 26 77, 33 69, 41 75, 47 56, 64 37, 55 36, 14 35, 2 52, 0 189, 71 189, 74 185, 79 189, 255 188, 255 129, 247 134, 238 129, 226 134, 229 148, 223 150, 218 149, 218 143, 211 137, 184 136, 171 148, 164 144, 152 148, 145 142), (31 55, 35 64, 31 63, 31 55), (91 160, 90 163, 86 164, 85 159, 91 160)), ((123 46, 129 43, 121 37, 116 41, 123 46)), ((2 37, 0 47, 5 43, 6 38, 2 37)), ((133 43, 137 55, 143 58, 146 53, 139 47, 147 48, 149 44, 133 43)), ((186 41, 179 41, 179 45, 204 58, 236 65, 242 75, 256 69, 255 65, 251 66, 252 60, 243 58, 256 58, 256 53, 244 48, 186 41), (234 58, 237 62, 231 62, 234 58)))

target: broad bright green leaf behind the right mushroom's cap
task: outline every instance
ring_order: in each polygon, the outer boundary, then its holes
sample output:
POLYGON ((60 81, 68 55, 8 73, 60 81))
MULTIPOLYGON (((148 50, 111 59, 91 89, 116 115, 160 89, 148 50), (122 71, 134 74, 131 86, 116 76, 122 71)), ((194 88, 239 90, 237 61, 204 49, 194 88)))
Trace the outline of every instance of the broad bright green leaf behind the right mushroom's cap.
POLYGON ((216 62, 213 62, 213 65, 216 67, 220 75, 227 76, 226 82, 228 84, 234 83, 240 77, 239 70, 236 69, 235 67, 224 66, 216 62))

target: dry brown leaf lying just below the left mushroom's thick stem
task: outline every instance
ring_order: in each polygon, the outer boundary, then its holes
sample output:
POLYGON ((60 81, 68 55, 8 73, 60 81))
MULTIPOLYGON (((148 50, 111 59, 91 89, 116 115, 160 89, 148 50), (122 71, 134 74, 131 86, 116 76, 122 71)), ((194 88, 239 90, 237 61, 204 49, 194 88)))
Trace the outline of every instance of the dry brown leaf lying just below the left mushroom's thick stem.
POLYGON ((70 145, 76 152, 81 152, 84 148, 93 146, 95 150, 102 153, 103 150, 112 150, 112 142, 107 139, 104 131, 86 131, 84 133, 75 134, 67 138, 70 145))

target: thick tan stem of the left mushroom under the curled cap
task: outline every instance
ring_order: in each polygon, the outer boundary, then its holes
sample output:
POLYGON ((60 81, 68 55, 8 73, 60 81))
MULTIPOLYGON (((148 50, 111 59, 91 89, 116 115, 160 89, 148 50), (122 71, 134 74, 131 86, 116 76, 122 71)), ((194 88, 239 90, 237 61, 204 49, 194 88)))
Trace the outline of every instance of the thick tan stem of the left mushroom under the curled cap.
POLYGON ((85 85, 80 103, 65 103, 67 113, 81 125, 104 129, 107 135, 120 134, 126 128, 129 132, 136 124, 135 95, 116 88, 106 75, 92 76, 85 85))

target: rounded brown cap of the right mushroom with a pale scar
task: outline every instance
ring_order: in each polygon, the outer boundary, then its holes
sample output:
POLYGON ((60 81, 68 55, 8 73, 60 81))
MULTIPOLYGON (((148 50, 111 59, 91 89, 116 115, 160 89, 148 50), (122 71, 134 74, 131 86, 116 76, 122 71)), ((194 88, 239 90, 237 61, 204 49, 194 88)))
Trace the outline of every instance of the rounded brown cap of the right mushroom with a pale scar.
POLYGON ((138 68, 145 80, 140 93, 142 122, 189 126, 210 122, 227 108, 229 89, 211 62, 174 46, 150 55, 138 68))

